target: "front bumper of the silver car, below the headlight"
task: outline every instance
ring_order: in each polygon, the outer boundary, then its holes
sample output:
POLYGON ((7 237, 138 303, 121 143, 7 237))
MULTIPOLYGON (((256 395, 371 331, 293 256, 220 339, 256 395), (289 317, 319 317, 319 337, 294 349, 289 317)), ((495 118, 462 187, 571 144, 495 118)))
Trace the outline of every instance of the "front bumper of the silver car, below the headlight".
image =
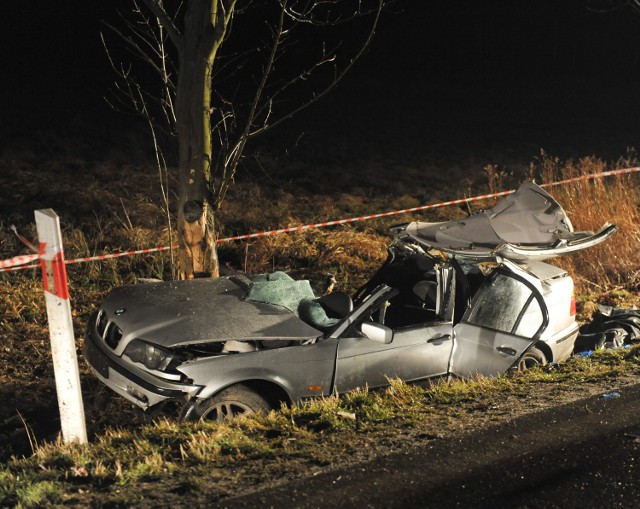
POLYGON ((136 366, 123 364, 91 331, 82 354, 102 383, 144 410, 168 400, 186 400, 201 390, 198 385, 161 380, 136 366))

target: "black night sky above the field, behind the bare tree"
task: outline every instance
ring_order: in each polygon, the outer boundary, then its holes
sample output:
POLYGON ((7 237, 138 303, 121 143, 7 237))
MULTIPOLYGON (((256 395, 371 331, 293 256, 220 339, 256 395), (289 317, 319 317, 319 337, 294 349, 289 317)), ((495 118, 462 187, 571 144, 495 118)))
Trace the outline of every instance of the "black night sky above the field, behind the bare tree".
MULTIPOLYGON (((558 150, 581 141, 596 152, 623 150, 640 132, 640 13, 598 13, 588 3, 402 0, 404 12, 385 16, 349 79, 299 122, 365 136, 446 134, 483 143, 494 133, 498 143, 503 133, 505 143, 520 136, 558 150)), ((100 19, 115 19, 115 8, 126 5, 4 2, 5 141, 36 128, 111 121, 102 97, 113 76, 98 33, 100 19)))

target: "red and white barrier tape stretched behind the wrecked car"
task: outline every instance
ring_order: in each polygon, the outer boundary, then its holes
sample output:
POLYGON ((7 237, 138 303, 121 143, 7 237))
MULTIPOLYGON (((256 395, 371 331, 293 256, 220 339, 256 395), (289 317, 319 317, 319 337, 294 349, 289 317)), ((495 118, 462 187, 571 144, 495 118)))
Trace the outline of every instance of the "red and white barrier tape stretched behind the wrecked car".
MULTIPOLYGON (((548 184, 541 184, 540 187, 555 187, 555 186, 559 186, 559 185, 563 185, 563 184, 570 184, 573 182, 579 182, 581 180, 594 180, 597 178, 604 178, 604 177, 611 177, 611 176, 615 176, 615 175, 626 175, 626 174, 630 174, 630 173, 637 173, 640 172, 640 167, 636 167, 636 168, 624 168, 621 170, 611 170, 611 171, 603 171, 600 173, 593 173, 590 175, 581 175, 578 177, 572 177, 572 178, 568 178, 565 180, 558 180, 556 182, 550 182, 548 184)), ((499 198, 501 196, 506 196, 509 194, 515 193, 515 189, 511 189, 509 191, 501 191, 499 193, 491 193, 491 194, 483 194, 483 195, 479 195, 479 196, 473 196, 471 198, 460 198, 457 200, 451 200, 451 201, 444 201, 444 202, 440 202, 440 203, 432 203, 430 205, 422 205, 420 207, 411 207, 408 209, 402 209, 402 210, 394 210, 392 212, 382 212, 380 214, 371 214, 368 216, 358 216, 358 217, 350 217, 347 219, 337 219, 335 221, 325 221, 323 223, 315 223, 315 224, 306 224, 306 225, 300 225, 300 226, 292 226, 289 228, 280 228, 277 230, 270 230, 270 231, 264 231, 264 232, 258 232, 258 233, 249 233, 246 235, 235 235, 233 237, 226 237, 223 239, 218 239, 217 242, 219 244, 224 243, 224 242, 233 242, 233 241, 237 241, 237 240, 248 240, 248 239, 256 239, 256 238, 260 238, 260 237, 268 237, 271 235, 279 235, 281 233, 292 233, 292 232, 299 232, 299 231, 304 231, 304 230, 312 230, 315 228, 326 228, 327 226, 336 226, 336 225, 340 225, 340 224, 348 224, 348 223, 355 223, 355 222, 359 222, 359 221, 368 221, 369 219, 379 219, 382 217, 389 217, 389 216, 396 216, 399 214, 408 214, 411 212, 419 212, 422 210, 431 210, 431 209, 436 209, 436 208, 440 208, 440 207, 448 207, 450 205, 460 205, 462 203, 471 203, 471 202, 475 202, 475 201, 480 201, 480 200, 487 200, 490 198, 499 198)), ((28 244, 27 244, 28 245, 28 244)), ((65 260, 65 264, 70 265, 73 263, 83 263, 83 262, 94 262, 94 261, 101 261, 101 260, 108 260, 111 258, 120 258, 123 256, 132 256, 132 255, 138 255, 138 254, 147 254, 147 253, 154 253, 154 252, 158 252, 158 251, 168 251, 170 249, 177 249, 178 246, 165 246, 165 247, 154 247, 154 248, 148 248, 148 249, 138 249, 136 251, 126 251, 126 252, 122 252, 122 253, 112 253, 112 254, 106 254, 106 255, 97 255, 97 256, 87 256, 84 258, 76 258, 76 259, 72 259, 72 260, 65 260)), ((12 270, 21 270, 21 269, 31 269, 31 268, 36 268, 39 267, 38 264, 32 264, 32 265, 25 265, 28 264, 36 259, 38 259, 39 255, 24 255, 24 256, 15 256, 14 258, 10 258, 8 260, 0 260, 0 272, 8 272, 8 271, 12 271, 12 270)))

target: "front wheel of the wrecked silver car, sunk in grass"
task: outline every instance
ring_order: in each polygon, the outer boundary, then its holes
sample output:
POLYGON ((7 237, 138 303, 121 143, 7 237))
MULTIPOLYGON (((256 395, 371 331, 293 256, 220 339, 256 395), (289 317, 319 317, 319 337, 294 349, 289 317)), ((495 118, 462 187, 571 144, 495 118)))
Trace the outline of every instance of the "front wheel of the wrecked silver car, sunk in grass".
POLYGON ((258 393, 245 385, 233 385, 199 401, 182 417, 189 421, 224 422, 269 410, 271 406, 258 393))

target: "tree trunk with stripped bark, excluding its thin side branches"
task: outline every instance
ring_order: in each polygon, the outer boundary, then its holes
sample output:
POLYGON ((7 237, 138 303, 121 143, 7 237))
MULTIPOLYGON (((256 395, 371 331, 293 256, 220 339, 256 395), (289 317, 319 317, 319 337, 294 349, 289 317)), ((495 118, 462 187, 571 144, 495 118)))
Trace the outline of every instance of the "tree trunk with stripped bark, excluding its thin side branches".
POLYGON ((219 275, 216 211, 211 203, 211 76, 234 3, 234 0, 191 0, 185 14, 176 104, 181 279, 219 275))

